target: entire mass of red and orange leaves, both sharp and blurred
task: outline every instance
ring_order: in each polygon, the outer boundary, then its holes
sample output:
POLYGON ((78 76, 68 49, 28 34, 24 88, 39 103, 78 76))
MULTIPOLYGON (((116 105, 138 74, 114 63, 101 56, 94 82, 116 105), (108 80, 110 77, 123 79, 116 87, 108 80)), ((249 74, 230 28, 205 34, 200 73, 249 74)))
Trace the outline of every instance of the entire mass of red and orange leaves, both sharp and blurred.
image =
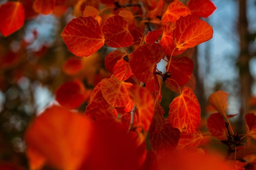
MULTIPOLYGON (((90 91, 77 75, 88 67, 84 74, 95 72, 91 63, 86 65, 79 58, 65 62, 63 71, 75 78, 56 91, 61 106, 47 108, 25 134, 31 169, 45 164, 63 170, 231 169, 218 156, 205 155, 198 148, 203 136, 198 130, 200 106, 193 93, 189 49, 212 38, 212 26, 198 18, 215 11, 210 0, 188 0, 186 5, 179 0, 8 1, 0 6, 0 15, 2 11, 10 14, 0 21, 0 32, 8 36, 20 29, 25 18, 31 17, 27 14, 31 9, 60 15, 57 11, 67 7, 74 7, 76 16, 61 33, 68 50, 79 57, 96 58, 103 46, 115 48, 105 57, 111 75, 90 91), (156 69, 161 60, 168 62, 166 73, 156 69), (160 104, 163 83, 178 93, 166 119, 160 104), (70 110, 86 100, 84 116, 70 110), (150 150, 146 150, 148 133, 150 150)), ((207 127, 218 139, 227 140, 223 98, 218 94, 209 99, 219 113, 209 117, 207 127)), ((247 125, 253 133, 255 122, 247 125)))

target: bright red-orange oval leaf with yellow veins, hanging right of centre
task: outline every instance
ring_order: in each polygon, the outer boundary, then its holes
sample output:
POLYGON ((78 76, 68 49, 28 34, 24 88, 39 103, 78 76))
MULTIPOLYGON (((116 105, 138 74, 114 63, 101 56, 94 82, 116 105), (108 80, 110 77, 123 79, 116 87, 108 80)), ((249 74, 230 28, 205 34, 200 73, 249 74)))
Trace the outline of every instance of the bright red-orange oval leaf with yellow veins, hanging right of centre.
POLYGON ((195 133, 200 121, 200 105, 191 88, 184 87, 182 94, 173 99, 169 108, 168 121, 174 128, 188 134, 195 133))

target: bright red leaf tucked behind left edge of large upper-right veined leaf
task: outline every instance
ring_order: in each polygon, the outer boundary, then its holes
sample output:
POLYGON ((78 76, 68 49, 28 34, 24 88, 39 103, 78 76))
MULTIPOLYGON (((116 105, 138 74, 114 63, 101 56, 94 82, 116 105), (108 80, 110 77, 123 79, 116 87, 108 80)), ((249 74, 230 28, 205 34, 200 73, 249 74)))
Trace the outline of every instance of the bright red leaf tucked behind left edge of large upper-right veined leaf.
POLYGON ((167 22, 162 26, 163 35, 160 44, 163 46, 164 53, 170 56, 180 55, 184 52, 176 49, 176 45, 173 42, 173 30, 175 27, 176 25, 173 22, 167 22))

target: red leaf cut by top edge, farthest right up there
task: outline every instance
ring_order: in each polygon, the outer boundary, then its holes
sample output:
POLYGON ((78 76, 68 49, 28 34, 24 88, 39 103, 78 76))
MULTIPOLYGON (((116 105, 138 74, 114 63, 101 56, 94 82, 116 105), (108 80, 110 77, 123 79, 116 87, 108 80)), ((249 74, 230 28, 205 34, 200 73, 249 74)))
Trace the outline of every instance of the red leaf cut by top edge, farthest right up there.
POLYGON ((208 18, 217 8, 210 0, 189 0, 186 6, 191 15, 208 18))

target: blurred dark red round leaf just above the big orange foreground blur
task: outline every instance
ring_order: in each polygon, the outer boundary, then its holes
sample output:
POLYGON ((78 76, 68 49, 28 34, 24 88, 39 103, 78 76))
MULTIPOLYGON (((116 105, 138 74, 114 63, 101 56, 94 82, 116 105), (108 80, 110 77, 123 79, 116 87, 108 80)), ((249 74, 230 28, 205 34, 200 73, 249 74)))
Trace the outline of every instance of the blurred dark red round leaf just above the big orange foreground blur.
POLYGON ((72 109, 79 107, 89 99, 91 91, 87 91, 82 82, 75 80, 62 84, 56 91, 56 100, 62 106, 72 109))

